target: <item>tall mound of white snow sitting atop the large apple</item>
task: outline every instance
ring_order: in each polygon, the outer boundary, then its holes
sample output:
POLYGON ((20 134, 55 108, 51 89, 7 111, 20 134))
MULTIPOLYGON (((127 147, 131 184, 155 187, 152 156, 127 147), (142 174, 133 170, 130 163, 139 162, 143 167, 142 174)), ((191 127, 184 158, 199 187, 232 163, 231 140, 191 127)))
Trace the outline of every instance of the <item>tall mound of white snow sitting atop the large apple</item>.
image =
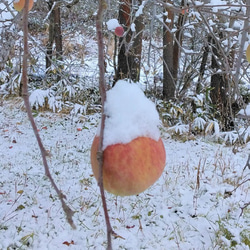
POLYGON ((104 149, 116 143, 129 143, 140 136, 159 139, 160 120, 156 107, 136 83, 118 81, 107 92, 104 110, 107 117, 104 149))

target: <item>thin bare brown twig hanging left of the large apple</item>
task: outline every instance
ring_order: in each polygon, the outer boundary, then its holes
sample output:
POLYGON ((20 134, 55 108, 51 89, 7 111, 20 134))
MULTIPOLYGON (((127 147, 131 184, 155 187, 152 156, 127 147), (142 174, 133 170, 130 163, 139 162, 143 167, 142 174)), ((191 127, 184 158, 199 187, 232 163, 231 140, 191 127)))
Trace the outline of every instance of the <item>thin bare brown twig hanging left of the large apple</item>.
POLYGON ((61 203, 62 203, 62 208, 66 214, 66 218, 68 223, 71 225, 72 228, 76 228, 74 222, 73 222, 73 215, 74 212, 68 207, 68 205, 65 203, 64 199, 66 199, 66 196, 58 189, 57 185, 55 184, 49 170, 48 162, 47 162, 47 156, 48 153, 45 150, 42 140, 39 136, 38 129, 36 126, 36 123, 34 121, 34 118, 32 116, 32 111, 29 103, 29 94, 28 94, 28 76, 27 76, 27 68, 28 68, 28 55, 29 55, 29 49, 28 49, 28 5, 29 5, 29 0, 25 1, 24 5, 24 11, 23 11, 23 74, 22 74, 22 95, 23 95, 23 100, 24 104, 26 107, 27 115, 30 120, 32 129, 34 131, 38 146, 41 151, 42 155, 42 160, 43 160, 43 165, 44 165, 44 170, 45 170, 45 175, 49 178, 53 188, 55 189, 61 203))

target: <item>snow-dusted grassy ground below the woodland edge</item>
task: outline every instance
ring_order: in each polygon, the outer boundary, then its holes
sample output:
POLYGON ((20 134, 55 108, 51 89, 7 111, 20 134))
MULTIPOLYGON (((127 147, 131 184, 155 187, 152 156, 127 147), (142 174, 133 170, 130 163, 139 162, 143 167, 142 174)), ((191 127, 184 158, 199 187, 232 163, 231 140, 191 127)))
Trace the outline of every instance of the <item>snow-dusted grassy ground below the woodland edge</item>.
MULTIPOLYGON (((53 177, 75 211, 73 230, 44 175, 22 101, 1 103, 0 249, 105 249, 90 165, 99 118, 49 112, 35 118, 53 177)), ((113 239, 113 249, 249 249, 250 170, 244 167, 250 144, 180 142, 164 127, 161 133, 167 154, 161 178, 137 196, 106 194, 111 224, 122 237, 113 239)))

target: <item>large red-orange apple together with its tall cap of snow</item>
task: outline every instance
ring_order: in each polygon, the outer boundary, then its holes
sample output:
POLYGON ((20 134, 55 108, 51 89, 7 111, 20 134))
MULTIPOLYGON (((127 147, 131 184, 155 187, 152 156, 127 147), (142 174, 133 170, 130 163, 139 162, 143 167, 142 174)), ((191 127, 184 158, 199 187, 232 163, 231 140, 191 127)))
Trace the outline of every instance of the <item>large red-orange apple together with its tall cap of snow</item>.
MULTIPOLYGON (((139 194, 156 182, 165 167, 158 112, 138 85, 125 80, 107 92, 104 112, 104 188, 120 196, 139 194)), ((99 134, 100 128, 91 147, 91 165, 97 180, 99 134)))

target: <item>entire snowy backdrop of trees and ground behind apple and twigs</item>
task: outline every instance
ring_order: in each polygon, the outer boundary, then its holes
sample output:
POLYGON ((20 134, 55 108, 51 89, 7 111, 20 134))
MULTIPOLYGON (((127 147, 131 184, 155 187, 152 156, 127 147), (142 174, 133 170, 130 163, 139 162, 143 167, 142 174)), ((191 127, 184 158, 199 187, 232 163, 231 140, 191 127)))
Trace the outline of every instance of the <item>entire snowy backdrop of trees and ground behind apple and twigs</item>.
MULTIPOLYGON (((20 98, 22 13, 12 1, 0 6, 0 230, 6 236, 0 248, 106 246, 89 163, 101 111, 98 1, 38 0, 28 19, 32 114, 52 152, 53 176, 77 211, 77 231, 65 225, 44 178, 20 98)), ((166 171, 155 186, 134 197, 107 194, 111 223, 122 235, 116 249, 191 249, 194 242, 197 249, 249 248, 249 12, 249 0, 107 1, 107 88, 122 78, 138 82, 157 106, 167 149, 166 171), (110 19, 123 26, 123 37, 108 30, 110 19)))

